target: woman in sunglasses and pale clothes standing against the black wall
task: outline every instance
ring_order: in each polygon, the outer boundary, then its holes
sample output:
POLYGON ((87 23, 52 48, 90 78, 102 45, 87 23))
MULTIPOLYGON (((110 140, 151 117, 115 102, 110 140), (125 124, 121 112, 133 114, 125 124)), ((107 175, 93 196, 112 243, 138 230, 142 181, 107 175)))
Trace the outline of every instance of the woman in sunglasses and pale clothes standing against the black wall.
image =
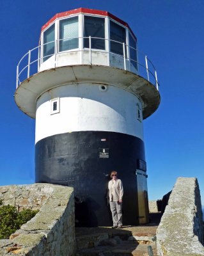
POLYGON ((108 183, 109 203, 113 218, 112 228, 122 228, 122 198, 123 184, 117 177, 118 173, 111 172, 111 180, 108 183))

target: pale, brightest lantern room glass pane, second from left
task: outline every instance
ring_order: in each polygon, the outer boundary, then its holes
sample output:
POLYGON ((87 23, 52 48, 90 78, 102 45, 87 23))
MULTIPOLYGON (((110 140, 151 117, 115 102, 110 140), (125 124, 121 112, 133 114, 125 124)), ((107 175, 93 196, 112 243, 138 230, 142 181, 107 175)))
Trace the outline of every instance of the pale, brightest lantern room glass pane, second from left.
POLYGON ((59 51, 79 48, 78 16, 60 20, 59 22, 59 51))

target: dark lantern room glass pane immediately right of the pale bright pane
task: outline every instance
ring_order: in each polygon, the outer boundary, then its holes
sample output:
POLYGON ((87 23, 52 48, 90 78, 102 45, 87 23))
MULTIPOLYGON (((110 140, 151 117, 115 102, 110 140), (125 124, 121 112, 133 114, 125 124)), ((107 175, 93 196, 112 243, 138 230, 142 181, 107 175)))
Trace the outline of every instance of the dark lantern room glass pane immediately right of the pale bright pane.
MULTIPOLYGON (((84 37, 91 36, 91 49, 105 50, 105 19, 84 16, 84 37), (97 38, 96 38, 97 37, 97 38)), ((89 38, 84 38, 84 48, 89 48, 89 38)))

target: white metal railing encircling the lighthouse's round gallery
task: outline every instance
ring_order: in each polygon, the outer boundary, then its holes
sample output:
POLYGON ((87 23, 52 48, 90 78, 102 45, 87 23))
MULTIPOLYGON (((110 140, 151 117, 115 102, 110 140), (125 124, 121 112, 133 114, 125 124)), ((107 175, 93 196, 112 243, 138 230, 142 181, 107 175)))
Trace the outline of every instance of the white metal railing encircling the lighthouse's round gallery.
MULTIPOLYGON (((111 56, 118 56, 119 59, 123 58, 122 68, 124 68, 124 70, 129 70, 131 72, 139 74, 139 76, 144 77, 145 79, 150 81, 150 83, 152 83, 155 86, 155 88, 159 90, 157 72, 155 70, 155 67, 152 61, 150 61, 150 59, 148 59, 147 56, 145 56, 145 54, 137 51, 137 49, 125 43, 106 39, 106 38, 98 38, 98 37, 91 37, 91 36, 63 38, 60 40, 48 42, 46 44, 41 44, 35 47, 34 49, 28 51, 24 56, 22 56, 22 58, 20 59, 17 65, 16 86, 18 87, 20 83, 22 83, 22 81, 29 78, 33 74, 40 72, 40 68, 52 56, 54 56, 54 60, 52 60, 53 67, 60 67, 60 65, 58 65, 59 64, 58 56, 61 54, 66 54, 68 52, 89 52, 88 64, 90 65, 94 64, 94 61, 92 60, 93 52, 103 52, 104 54, 107 54, 108 56, 107 66, 110 66, 110 67, 111 66, 117 67, 117 65, 112 65, 110 61, 111 56), (63 42, 66 42, 66 41, 68 42, 68 40, 73 40, 73 39, 77 39, 77 49, 68 49, 66 51, 60 51, 60 47, 59 47, 60 44, 63 44, 63 42), (88 42, 89 42, 88 48, 82 47, 85 39, 88 39, 88 42), (103 40, 104 49, 95 49, 96 48, 94 47, 95 45, 91 44, 92 40, 103 40), (120 49, 120 51, 119 50, 111 51, 111 44, 114 44, 114 45, 118 44, 119 46, 118 48, 120 49), (45 47, 49 47, 52 49, 51 54, 46 54, 45 47), (131 54, 131 52, 134 52, 134 54, 131 54), (131 55, 134 55, 135 57, 131 58, 132 57, 131 55)), ((68 56, 66 56, 66 58, 68 58, 68 56)), ((79 64, 84 64, 84 63, 79 63, 79 64)), ((101 63, 101 65, 104 65, 104 64, 101 63)))

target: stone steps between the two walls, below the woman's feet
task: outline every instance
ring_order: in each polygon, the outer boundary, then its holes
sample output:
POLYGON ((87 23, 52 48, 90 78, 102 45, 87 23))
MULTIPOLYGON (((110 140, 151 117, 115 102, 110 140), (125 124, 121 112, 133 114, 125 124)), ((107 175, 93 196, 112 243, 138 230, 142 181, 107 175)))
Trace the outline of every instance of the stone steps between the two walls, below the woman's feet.
POLYGON ((75 228, 77 256, 148 256, 148 246, 156 254, 157 226, 75 228))

